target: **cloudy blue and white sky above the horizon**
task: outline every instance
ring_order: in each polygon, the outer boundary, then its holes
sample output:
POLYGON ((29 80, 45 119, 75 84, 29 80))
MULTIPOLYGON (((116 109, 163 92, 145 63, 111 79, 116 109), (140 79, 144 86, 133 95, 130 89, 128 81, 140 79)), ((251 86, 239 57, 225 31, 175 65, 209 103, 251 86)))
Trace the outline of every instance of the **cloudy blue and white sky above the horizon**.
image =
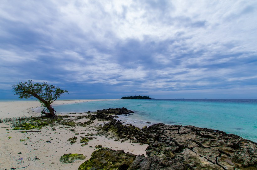
POLYGON ((256 0, 2 0, 0 98, 257 98, 256 0))

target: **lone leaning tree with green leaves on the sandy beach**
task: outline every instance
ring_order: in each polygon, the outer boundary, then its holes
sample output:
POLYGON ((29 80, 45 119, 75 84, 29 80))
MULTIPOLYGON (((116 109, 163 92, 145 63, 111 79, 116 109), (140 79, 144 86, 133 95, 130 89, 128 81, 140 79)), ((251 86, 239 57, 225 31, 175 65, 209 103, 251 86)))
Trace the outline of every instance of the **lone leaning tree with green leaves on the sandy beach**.
POLYGON ((56 117, 56 111, 51 104, 57 98, 60 98, 63 93, 68 93, 67 90, 56 88, 52 84, 49 85, 46 82, 33 83, 32 80, 13 84, 12 88, 15 95, 19 95, 19 98, 37 98, 42 106, 45 107, 41 113, 49 117, 56 117), (49 112, 45 112, 45 109, 49 112))

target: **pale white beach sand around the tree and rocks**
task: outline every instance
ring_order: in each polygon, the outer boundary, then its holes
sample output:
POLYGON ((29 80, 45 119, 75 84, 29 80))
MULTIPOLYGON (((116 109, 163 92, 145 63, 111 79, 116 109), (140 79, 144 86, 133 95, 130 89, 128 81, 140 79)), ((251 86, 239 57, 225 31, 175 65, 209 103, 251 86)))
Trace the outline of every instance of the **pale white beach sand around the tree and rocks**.
MULTIPOLYGON (((87 102, 92 100, 57 100, 54 104, 68 104, 76 102, 87 102)), ((0 102, 0 119, 14 118, 21 116, 37 116, 40 113, 33 111, 41 104, 38 101, 15 101, 0 102)), ((72 114, 72 116, 81 114, 72 114)), ((83 115, 86 115, 85 113, 83 115)), ((84 122, 85 120, 77 120, 84 122)), ((68 153, 81 153, 90 159, 95 146, 102 145, 115 150, 123 149, 125 152, 131 152, 135 155, 146 155, 148 145, 139 145, 139 143, 129 143, 129 141, 120 142, 108 139, 104 136, 93 135, 93 140, 88 145, 81 146, 80 139, 87 133, 95 134, 96 127, 107 122, 95 120, 93 124, 87 127, 70 127, 57 125, 54 127, 45 126, 41 130, 29 130, 39 132, 21 133, 21 130, 12 130, 11 124, 0 123, 0 170, 10 169, 11 167, 25 167, 29 169, 77 169, 85 160, 73 163, 63 164, 60 162, 60 156, 68 153), (62 128, 60 128, 62 127, 62 128), (74 129, 74 131, 71 131, 74 129), (75 135, 75 133, 79 133, 75 135), (76 143, 71 144, 67 141, 76 136, 76 143), (50 142, 47 142, 50 141, 50 142), (89 147, 92 146, 92 147, 89 147), (19 154, 19 152, 22 152, 19 154), (18 160, 23 158, 22 161, 18 160), (35 159, 36 158, 36 159, 35 159), (38 159, 37 159, 38 158, 38 159)))

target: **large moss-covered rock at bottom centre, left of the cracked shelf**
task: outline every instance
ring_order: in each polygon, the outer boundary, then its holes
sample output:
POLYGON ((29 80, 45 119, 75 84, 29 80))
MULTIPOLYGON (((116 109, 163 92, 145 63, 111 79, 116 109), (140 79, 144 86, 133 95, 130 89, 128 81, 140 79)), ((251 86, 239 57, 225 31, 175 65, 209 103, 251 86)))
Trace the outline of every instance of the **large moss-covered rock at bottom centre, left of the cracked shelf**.
POLYGON ((101 148, 92 153, 92 157, 82 163, 78 170, 93 169, 128 169, 129 165, 135 160, 136 155, 125 153, 123 150, 112 150, 101 148))

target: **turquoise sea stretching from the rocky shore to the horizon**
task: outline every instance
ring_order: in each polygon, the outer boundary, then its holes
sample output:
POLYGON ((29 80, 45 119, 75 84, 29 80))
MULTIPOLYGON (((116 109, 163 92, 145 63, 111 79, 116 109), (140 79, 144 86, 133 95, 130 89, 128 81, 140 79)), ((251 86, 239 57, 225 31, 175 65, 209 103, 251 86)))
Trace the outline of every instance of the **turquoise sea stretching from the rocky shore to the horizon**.
POLYGON ((126 124, 193 125, 222 130, 257 142, 257 99, 118 99, 57 105, 59 113, 87 112, 108 108, 135 111, 120 116, 126 124), (146 124, 149 121, 151 124, 146 124))

